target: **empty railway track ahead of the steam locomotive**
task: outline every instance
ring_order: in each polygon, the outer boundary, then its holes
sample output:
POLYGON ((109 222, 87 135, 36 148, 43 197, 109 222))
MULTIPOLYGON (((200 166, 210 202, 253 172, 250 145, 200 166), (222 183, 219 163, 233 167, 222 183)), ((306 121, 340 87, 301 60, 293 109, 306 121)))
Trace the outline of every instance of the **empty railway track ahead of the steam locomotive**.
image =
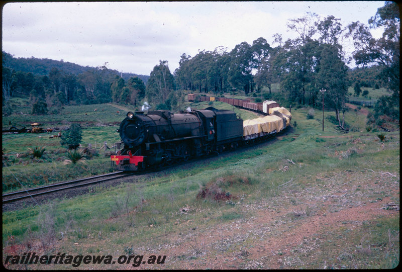
POLYGON ((57 184, 27 189, 27 190, 18 191, 18 192, 12 192, 12 193, 3 195, 3 203, 10 203, 10 202, 14 202, 14 201, 22 200, 22 199, 34 198, 36 196, 59 192, 62 190, 68 190, 68 189, 72 189, 72 188, 93 185, 96 183, 101 183, 101 182, 105 182, 107 180, 121 178, 124 176, 133 175, 133 174, 134 173, 124 173, 124 171, 117 171, 117 172, 113 172, 113 173, 109 173, 109 174, 90 176, 90 177, 85 177, 85 178, 81 178, 81 179, 70 180, 70 181, 64 182, 64 183, 57 183, 57 184))

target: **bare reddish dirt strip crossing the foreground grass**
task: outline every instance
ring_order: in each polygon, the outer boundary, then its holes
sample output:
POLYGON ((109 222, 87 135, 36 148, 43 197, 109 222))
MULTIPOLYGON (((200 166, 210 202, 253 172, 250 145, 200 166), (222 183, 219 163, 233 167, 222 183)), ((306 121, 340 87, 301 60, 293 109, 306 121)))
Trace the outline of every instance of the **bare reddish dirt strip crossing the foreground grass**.
MULTIPOLYGON (((370 171, 367 171, 370 172, 370 171)), ((373 173, 376 175, 369 188, 383 190, 387 187, 385 180, 396 180, 392 173, 373 173), (382 182, 378 182, 381 180, 382 182)), ((356 173, 346 173, 347 179, 354 179, 356 173)), ((332 177, 342 180, 342 174, 332 177)), ((367 182, 367 181, 365 181, 367 182)), ((332 181, 322 193, 311 195, 309 190, 286 194, 273 202, 258 202, 243 207, 245 213, 253 214, 247 219, 235 220, 209 227, 191 229, 191 221, 181 223, 188 225, 188 233, 168 237, 169 243, 160 245, 157 254, 166 254, 165 268, 178 269, 233 269, 233 268, 291 268, 286 259, 292 259, 293 251, 301 245, 306 250, 317 249, 315 237, 327 231, 336 232, 347 226, 354 229, 365 221, 375 221, 379 217, 399 216, 398 208, 385 210, 392 197, 399 198, 397 182, 391 182, 391 195, 380 202, 370 202, 359 192, 354 191, 356 184, 344 183, 340 188, 332 181), (328 188, 329 187, 329 188, 328 188), (294 199, 300 205, 280 206, 286 199, 294 199), (311 207, 311 214, 306 209, 311 207), (337 207, 334 210, 334 207, 337 207), (302 209, 298 209, 302 208, 302 209), (297 219, 295 219, 297 218, 297 219)), ((320 193, 320 192, 317 192, 320 193)), ((208 219, 207 219, 208 220, 208 219)), ((164 237, 166 238, 166 237, 164 237)), ((347 241, 337 241, 339 247, 347 241)), ((297 251, 297 250, 296 250, 297 251)), ((318 250, 318 253, 320 251, 318 250)), ((156 252, 155 252, 156 253, 156 252)), ((322 252, 321 252, 322 253, 322 252)), ((299 261, 298 264, 303 264, 299 261)), ((133 267, 128 265, 126 269, 133 267)), ((143 265, 139 268, 155 268, 143 265)), ((324 268, 324 267, 317 267, 324 268)))

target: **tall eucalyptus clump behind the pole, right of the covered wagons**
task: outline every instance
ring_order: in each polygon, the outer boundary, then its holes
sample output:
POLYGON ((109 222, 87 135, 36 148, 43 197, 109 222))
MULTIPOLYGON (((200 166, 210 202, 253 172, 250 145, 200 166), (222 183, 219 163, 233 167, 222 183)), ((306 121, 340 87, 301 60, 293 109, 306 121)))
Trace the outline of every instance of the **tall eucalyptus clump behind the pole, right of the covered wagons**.
POLYGON ((281 86, 289 102, 318 106, 319 89, 326 88, 326 105, 335 110, 340 126, 340 113, 345 112, 347 97, 347 66, 342 52, 344 29, 340 19, 316 14, 289 20, 287 27, 298 34, 282 45, 280 35, 275 41, 281 46, 270 60, 271 76, 280 76, 281 86))

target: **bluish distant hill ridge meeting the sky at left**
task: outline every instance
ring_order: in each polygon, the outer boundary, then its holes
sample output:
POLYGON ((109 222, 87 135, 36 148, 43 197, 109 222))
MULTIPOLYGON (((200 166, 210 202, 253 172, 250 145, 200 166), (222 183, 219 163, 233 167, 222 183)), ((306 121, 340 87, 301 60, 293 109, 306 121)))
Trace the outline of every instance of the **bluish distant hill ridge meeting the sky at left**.
MULTIPOLYGON (((71 73, 78 75, 83 73, 87 70, 94 69, 94 67, 89 66, 81 66, 71 62, 64 62, 62 60, 53 60, 53 59, 40 59, 40 58, 15 58, 13 55, 2 52, 3 58, 3 66, 14 69, 16 71, 23 71, 23 72, 31 72, 35 75, 48 75, 52 68, 57 68, 62 70, 66 73, 71 73)), ((149 75, 142 75, 142 74, 134 74, 134 73, 120 73, 117 70, 116 74, 122 75, 124 80, 129 79, 133 76, 138 76, 139 78, 144 81, 144 84, 147 84, 149 75)))

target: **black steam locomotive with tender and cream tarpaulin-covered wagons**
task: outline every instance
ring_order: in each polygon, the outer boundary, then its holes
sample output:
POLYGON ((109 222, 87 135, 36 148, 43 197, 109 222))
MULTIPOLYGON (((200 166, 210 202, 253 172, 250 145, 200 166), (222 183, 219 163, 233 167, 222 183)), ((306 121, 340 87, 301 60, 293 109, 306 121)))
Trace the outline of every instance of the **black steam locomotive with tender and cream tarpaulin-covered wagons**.
MULTIPOLYGON (((244 103, 250 102, 242 107, 244 103)), ((118 170, 137 171, 264 140, 288 127, 291 119, 285 108, 272 107, 279 106, 276 102, 265 105, 267 116, 244 121, 233 111, 213 107, 175 114, 128 112, 119 128, 124 147, 111 156, 112 162, 118 170)))

